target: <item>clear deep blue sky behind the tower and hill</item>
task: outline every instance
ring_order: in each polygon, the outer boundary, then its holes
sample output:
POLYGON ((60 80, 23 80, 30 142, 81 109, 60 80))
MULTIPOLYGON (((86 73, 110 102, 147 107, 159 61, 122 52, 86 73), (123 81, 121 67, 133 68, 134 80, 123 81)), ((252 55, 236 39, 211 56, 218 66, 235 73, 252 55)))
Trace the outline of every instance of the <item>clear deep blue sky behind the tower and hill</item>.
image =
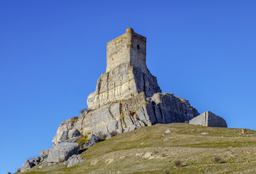
POLYGON ((256 129, 256 1, 0 1, 0 173, 52 146, 87 107, 106 43, 129 26, 147 37, 163 92, 230 128, 256 129))

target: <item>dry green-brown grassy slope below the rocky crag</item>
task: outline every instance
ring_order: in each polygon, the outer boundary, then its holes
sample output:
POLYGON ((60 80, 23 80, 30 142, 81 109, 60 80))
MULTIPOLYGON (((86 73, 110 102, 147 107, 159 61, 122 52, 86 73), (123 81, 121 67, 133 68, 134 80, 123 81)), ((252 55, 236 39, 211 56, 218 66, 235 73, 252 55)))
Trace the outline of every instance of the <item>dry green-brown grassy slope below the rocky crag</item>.
POLYGON ((235 128, 153 125, 90 147, 79 165, 33 167, 26 173, 256 173, 256 131, 247 132, 241 136, 235 128), (167 129, 171 133, 165 134, 167 129), (213 162, 215 156, 220 163, 213 162), (177 159, 181 167, 175 167, 177 159))

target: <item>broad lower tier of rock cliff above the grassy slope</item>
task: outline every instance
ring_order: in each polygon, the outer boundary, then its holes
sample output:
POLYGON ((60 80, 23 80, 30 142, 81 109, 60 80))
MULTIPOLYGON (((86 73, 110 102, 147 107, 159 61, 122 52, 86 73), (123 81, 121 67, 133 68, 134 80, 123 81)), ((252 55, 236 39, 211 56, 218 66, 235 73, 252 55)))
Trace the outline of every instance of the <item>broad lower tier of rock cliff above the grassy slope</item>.
POLYGON ((66 141, 68 136, 63 134, 76 129, 84 135, 88 132, 107 134, 113 130, 123 133, 156 123, 184 123, 197 115, 199 112, 188 100, 174 94, 156 93, 146 98, 145 93, 141 92, 131 99, 113 101, 66 120, 57 129, 53 142, 66 141))

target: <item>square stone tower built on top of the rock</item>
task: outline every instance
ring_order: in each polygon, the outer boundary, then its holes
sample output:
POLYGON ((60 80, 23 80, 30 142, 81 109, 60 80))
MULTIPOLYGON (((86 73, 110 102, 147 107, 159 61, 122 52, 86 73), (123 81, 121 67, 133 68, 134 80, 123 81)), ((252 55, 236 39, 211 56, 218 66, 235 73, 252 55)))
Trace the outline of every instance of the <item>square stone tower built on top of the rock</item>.
POLYGON ((135 33, 132 28, 118 38, 107 43, 107 70, 109 72, 120 64, 128 63, 147 73, 145 64, 146 38, 135 33))

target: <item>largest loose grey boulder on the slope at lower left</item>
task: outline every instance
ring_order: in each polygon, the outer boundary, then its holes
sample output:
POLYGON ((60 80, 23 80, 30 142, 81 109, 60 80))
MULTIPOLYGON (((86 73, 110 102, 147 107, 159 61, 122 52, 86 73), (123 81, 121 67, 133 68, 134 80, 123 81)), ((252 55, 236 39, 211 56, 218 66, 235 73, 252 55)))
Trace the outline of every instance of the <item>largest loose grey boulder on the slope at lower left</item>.
POLYGON ((79 153, 79 144, 60 142, 49 149, 47 162, 63 162, 73 154, 79 153))

